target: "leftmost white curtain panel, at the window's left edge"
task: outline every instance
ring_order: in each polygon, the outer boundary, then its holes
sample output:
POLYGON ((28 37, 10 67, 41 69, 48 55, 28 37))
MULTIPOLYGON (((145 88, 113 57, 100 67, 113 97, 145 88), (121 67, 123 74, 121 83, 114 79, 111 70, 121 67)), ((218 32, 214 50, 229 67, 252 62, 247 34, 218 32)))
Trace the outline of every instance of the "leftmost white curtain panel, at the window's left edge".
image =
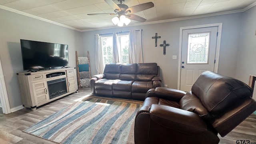
POLYGON ((103 65, 103 53, 102 53, 102 42, 100 34, 95 34, 95 64, 97 74, 103 74, 104 65, 103 65))

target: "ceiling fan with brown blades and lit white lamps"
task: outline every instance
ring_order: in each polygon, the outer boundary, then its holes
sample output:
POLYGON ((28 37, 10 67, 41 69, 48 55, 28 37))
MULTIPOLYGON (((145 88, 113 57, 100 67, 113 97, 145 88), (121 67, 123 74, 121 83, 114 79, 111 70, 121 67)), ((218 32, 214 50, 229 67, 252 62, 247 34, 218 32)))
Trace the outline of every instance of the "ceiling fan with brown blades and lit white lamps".
POLYGON ((87 14, 89 16, 93 15, 118 15, 118 17, 114 17, 112 22, 117 24, 118 26, 123 26, 124 24, 128 25, 131 20, 136 20, 138 22, 145 22, 146 19, 140 16, 134 15, 133 13, 140 12, 149 8, 154 7, 153 2, 147 2, 144 4, 138 4, 136 6, 128 7, 124 3, 124 0, 118 0, 120 4, 116 4, 113 0, 104 0, 109 6, 114 8, 114 13, 98 13, 98 14, 87 14))

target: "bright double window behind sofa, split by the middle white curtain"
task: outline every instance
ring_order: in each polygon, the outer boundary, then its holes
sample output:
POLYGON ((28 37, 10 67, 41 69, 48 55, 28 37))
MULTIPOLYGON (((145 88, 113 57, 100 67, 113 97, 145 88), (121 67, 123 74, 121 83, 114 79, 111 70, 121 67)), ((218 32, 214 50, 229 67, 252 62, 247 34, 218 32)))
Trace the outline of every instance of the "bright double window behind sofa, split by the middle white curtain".
MULTIPOLYGON (((129 58, 129 34, 117 35, 118 57, 121 63, 128 63, 129 58)), ((102 36, 102 51, 104 58, 104 66, 113 62, 113 36, 102 36)))

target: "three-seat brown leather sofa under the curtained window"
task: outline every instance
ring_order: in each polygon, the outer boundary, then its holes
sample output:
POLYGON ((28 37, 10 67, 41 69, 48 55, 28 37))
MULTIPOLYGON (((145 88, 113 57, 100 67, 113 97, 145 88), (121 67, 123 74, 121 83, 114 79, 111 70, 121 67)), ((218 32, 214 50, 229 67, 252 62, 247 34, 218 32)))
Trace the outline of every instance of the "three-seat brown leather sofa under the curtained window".
POLYGON ((99 96, 145 100, 150 88, 161 86, 156 63, 106 64, 104 74, 91 78, 91 93, 99 96))

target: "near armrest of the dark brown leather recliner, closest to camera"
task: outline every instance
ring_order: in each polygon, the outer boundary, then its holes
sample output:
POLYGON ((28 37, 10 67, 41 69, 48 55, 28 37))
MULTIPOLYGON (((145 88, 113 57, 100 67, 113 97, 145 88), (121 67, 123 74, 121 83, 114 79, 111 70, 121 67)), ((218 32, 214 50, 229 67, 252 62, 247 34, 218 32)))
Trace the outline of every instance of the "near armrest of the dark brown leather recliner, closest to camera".
POLYGON ((150 119, 165 128, 199 136, 207 131, 205 122, 198 114, 170 106, 152 104, 150 119))

